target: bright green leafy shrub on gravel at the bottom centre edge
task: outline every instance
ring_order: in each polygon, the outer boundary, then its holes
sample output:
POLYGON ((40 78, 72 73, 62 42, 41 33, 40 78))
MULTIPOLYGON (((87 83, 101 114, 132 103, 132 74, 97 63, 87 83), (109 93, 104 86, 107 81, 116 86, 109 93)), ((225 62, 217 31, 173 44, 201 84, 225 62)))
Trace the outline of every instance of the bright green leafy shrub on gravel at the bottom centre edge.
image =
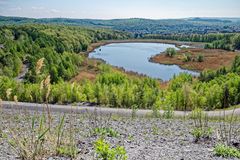
POLYGON ((127 160, 127 153, 124 147, 117 146, 111 148, 103 139, 99 139, 94 144, 97 158, 101 160, 127 160))

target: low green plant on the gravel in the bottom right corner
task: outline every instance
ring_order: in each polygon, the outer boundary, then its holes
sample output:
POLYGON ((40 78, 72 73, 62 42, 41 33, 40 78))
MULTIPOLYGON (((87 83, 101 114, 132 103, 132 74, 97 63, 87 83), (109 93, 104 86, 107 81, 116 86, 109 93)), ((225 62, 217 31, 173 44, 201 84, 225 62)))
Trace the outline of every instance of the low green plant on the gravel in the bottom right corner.
POLYGON ((217 156, 240 158, 240 150, 234 147, 218 144, 214 148, 214 152, 217 156))

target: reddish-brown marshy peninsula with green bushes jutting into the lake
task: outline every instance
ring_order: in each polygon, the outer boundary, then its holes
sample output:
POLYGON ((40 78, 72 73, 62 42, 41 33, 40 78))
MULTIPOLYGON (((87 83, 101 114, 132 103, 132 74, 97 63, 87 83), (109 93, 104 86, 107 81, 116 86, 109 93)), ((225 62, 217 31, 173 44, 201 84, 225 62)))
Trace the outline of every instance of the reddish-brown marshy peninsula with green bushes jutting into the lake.
MULTIPOLYGON (((167 54, 167 53, 166 53, 167 54)), ((219 49, 192 49, 185 48, 177 51, 175 56, 165 56, 164 53, 151 58, 151 61, 160 64, 175 64, 181 68, 203 71, 217 70, 222 67, 230 67, 237 52, 219 49)))

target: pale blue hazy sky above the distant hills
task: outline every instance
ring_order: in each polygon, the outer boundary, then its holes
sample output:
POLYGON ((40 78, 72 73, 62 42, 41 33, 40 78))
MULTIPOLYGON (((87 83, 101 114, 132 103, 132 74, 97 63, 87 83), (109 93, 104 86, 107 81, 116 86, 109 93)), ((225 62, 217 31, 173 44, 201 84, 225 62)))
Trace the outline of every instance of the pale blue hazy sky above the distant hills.
POLYGON ((68 18, 240 17, 239 0, 0 0, 0 15, 68 18))

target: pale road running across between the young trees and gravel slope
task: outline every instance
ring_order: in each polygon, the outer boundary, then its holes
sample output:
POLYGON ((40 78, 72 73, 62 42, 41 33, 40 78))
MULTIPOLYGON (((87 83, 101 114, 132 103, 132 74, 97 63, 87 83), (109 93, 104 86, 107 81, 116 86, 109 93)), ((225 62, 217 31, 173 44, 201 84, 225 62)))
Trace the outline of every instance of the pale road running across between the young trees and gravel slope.
MULTIPOLYGON (((23 103, 23 102, 8 102, 3 101, 0 105, 2 105, 5 109, 13 109, 13 110, 36 110, 36 111, 43 111, 46 108, 46 105, 44 104, 37 104, 37 103, 23 103)), ((71 105, 49 105, 52 112, 63 112, 63 113, 78 113, 78 114, 84 114, 84 113, 97 113, 101 115, 119 115, 119 116, 126 116, 130 117, 132 116, 132 110, 131 109, 123 109, 123 108, 103 108, 103 107, 97 107, 97 106, 71 106, 71 105)), ((137 117, 145 117, 148 115, 152 115, 152 110, 142 110, 139 109, 135 112, 135 115, 137 117)), ((163 111, 160 111, 160 113, 163 113, 163 111)), ((188 116, 191 112, 184 112, 184 111, 175 111, 174 116, 176 117, 183 117, 188 116)), ((234 115, 240 115, 240 108, 235 109, 234 113, 233 110, 226 110, 224 111, 206 111, 208 116, 210 117, 223 117, 223 116, 231 116, 234 115)))

